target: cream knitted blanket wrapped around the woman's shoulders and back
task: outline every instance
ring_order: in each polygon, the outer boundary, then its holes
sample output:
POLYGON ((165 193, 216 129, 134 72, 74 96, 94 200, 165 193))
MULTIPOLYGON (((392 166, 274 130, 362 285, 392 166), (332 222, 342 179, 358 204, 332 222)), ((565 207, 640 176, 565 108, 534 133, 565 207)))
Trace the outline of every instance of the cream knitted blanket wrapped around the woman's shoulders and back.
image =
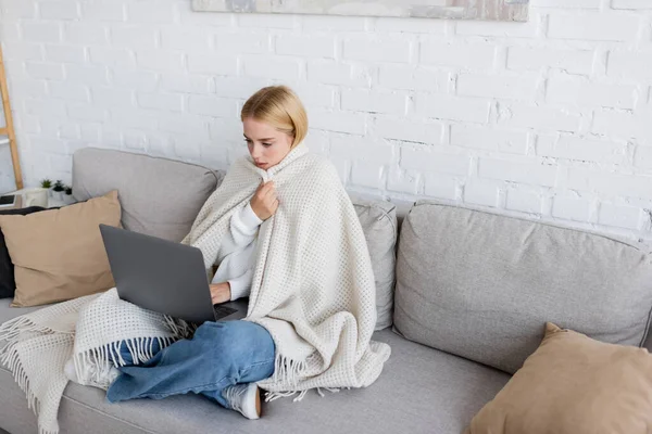
POLYGON ((364 387, 389 358, 371 341, 376 286, 360 220, 337 170, 299 144, 263 170, 250 157, 233 165, 183 241, 199 247, 206 269, 216 260, 233 213, 273 179, 276 214, 261 225, 247 319, 276 344, 268 399, 310 388, 364 387))

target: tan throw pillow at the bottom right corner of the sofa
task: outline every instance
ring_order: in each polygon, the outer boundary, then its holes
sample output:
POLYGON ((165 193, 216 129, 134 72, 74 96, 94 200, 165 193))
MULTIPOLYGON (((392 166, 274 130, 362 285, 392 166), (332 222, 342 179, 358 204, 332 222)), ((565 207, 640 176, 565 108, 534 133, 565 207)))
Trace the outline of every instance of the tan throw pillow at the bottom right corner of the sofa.
POLYGON ((652 432, 652 356, 546 324, 546 337, 471 434, 652 432))

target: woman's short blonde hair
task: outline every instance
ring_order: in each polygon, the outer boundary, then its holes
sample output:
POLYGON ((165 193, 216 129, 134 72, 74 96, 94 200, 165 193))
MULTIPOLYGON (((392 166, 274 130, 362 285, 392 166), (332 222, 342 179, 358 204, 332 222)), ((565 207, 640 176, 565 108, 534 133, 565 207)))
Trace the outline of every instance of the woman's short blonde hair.
POLYGON ((292 148, 308 135, 308 114, 301 100, 287 86, 269 86, 255 92, 247 100, 240 119, 251 117, 272 125, 292 137, 292 148))

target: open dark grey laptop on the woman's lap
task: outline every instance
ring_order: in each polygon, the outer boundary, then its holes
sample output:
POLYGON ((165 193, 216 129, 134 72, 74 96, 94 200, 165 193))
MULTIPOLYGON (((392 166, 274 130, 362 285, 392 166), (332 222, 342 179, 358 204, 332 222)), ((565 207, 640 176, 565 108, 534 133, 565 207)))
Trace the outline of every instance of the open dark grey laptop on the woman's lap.
POLYGON ((198 324, 247 316, 246 299, 213 306, 199 248, 106 225, 100 232, 122 299, 198 324))

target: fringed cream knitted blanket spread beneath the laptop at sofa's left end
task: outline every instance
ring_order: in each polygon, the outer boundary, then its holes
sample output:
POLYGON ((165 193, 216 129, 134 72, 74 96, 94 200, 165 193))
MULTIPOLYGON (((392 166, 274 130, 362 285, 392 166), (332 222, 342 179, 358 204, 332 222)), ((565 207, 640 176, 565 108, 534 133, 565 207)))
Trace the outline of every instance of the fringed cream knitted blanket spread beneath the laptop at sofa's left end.
POLYGON ((189 333, 184 321, 124 302, 112 289, 7 321, 0 327, 0 361, 27 395, 39 433, 57 434, 68 379, 106 390, 117 376, 114 366, 125 365, 121 344, 140 363, 154 356, 147 345, 152 340, 164 347, 189 333))

